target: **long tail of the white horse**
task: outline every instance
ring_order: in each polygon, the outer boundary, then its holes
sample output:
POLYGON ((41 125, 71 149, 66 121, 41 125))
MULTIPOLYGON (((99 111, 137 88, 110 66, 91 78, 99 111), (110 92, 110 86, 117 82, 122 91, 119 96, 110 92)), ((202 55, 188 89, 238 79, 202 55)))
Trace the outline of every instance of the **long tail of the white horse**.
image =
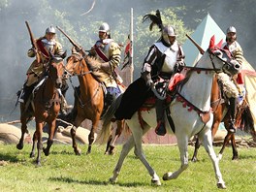
POLYGON ((107 112, 105 112, 104 116, 102 117, 103 125, 100 133, 97 137, 97 140, 100 144, 107 143, 109 136, 111 135, 112 131, 112 119, 114 118, 114 112, 120 106, 122 100, 122 94, 119 95, 113 102, 112 105, 109 107, 107 112))

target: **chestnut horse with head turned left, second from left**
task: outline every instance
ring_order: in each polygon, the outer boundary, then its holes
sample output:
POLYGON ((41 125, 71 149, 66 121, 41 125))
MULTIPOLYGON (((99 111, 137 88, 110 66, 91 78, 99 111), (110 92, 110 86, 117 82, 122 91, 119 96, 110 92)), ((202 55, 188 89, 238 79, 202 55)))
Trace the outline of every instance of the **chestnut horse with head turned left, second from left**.
MULTIPOLYGON (((80 148, 76 143, 75 136, 77 127, 84 119, 89 119, 92 122, 90 133, 88 135, 88 149, 86 154, 91 152, 91 145, 94 142, 94 133, 98 128, 101 115, 104 111, 104 84, 101 82, 102 74, 97 73, 99 70, 100 62, 90 56, 82 56, 81 52, 72 49, 72 54, 67 58, 66 73, 69 76, 78 76, 80 81, 80 94, 75 95, 76 114, 71 119, 71 123, 74 125, 71 129, 71 136, 73 141, 73 148, 77 155, 80 155, 80 148), (77 99, 76 99, 77 97, 77 99)), ((114 142, 118 138, 123 130, 124 121, 116 121, 117 131, 115 137, 109 139, 105 153, 112 154, 114 148, 114 142)))

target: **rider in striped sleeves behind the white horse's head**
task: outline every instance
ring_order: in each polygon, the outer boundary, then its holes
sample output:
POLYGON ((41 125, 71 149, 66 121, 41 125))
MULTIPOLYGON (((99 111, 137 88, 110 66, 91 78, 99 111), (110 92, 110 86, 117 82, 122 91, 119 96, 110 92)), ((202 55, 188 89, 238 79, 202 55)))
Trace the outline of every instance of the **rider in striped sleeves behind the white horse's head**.
MULTIPOLYGON (((240 44, 237 42, 237 30, 234 26, 230 26, 227 29, 226 33, 226 42, 223 43, 222 48, 227 49, 230 51, 233 57, 242 65, 242 60, 243 60, 243 52, 242 49, 240 48, 240 44)), ((224 75, 224 73, 221 73, 218 75, 218 79, 224 79, 227 75, 224 75)), ((225 83, 224 83, 225 84, 225 83)), ((244 89, 243 80, 241 77, 241 74, 239 73, 238 75, 231 75, 230 77, 230 83, 229 83, 229 92, 226 92, 227 97, 229 98, 229 103, 230 103, 230 113, 231 113, 231 120, 230 120, 230 127, 229 131, 231 133, 236 132, 236 127, 235 127, 235 115, 237 112, 237 103, 238 103, 238 98, 242 94, 242 89, 244 89)), ((224 87, 225 91, 225 87, 224 87)), ((243 93, 244 94, 244 93, 243 93)))

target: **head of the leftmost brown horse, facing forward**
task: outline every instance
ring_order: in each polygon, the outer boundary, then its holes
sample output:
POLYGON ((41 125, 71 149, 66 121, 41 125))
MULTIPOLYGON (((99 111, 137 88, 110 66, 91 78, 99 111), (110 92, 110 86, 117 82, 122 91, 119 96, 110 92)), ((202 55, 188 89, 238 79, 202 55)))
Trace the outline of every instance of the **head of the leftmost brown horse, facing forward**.
POLYGON ((60 88, 62 85, 62 76, 64 73, 63 58, 58 55, 50 54, 48 62, 48 76, 50 80, 55 83, 56 88, 60 88))

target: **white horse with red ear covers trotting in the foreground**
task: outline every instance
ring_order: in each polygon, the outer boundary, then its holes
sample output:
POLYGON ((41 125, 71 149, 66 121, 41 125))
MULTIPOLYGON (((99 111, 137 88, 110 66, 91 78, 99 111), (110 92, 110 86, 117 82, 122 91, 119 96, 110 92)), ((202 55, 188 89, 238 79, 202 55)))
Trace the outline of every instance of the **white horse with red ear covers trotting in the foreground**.
MULTIPOLYGON (((166 173, 163 176, 164 180, 169 180, 179 176, 188 167, 188 152, 187 145, 189 139, 198 134, 203 142, 208 156, 212 161, 212 165, 217 179, 219 188, 226 188, 225 182, 219 169, 219 160, 215 155, 211 141, 210 127, 213 120, 213 115, 210 109, 210 92, 212 78, 216 72, 223 71, 230 67, 229 56, 224 50, 214 46, 214 39, 210 41, 208 51, 204 53, 198 61, 197 67, 191 68, 189 79, 178 90, 176 99, 170 105, 171 116, 173 118, 176 131, 173 133, 168 120, 166 120, 166 129, 169 134, 176 135, 176 141, 180 152, 181 166, 174 173, 166 173), (198 73, 202 71, 201 73, 198 73), (180 96, 183 97, 180 99, 180 96), (184 99, 185 98, 185 99, 184 99), (184 105, 186 104, 186 105, 184 105), (189 107, 184 107, 189 106, 189 107), (190 108, 190 109, 189 109, 190 108), (191 110, 193 109, 193 110, 191 110)), ((100 135, 108 137, 111 129, 111 118, 114 110, 118 107, 121 97, 112 104, 108 114, 105 116, 104 124, 100 135)), ((131 104, 132 105, 132 104, 131 104)), ((123 145, 119 160, 113 170, 113 176, 110 181, 115 182, 119 175, 123 161, 131 148, 135 146, 135 154, 144 164, 149 175, 152 177, 151 182, 156 185, 161 185, 159 176, 149 165, 144 156, 142 147, 142 138, 144 134, 151 128, 156 127, 155 109, 148 112, 136 112, 131 119, 126 122, 132 131, 132 136, 123 145), (140 120, 141 119, 141 120, 140 120), (143 126, 143 127, 142 127, 143 126)))

